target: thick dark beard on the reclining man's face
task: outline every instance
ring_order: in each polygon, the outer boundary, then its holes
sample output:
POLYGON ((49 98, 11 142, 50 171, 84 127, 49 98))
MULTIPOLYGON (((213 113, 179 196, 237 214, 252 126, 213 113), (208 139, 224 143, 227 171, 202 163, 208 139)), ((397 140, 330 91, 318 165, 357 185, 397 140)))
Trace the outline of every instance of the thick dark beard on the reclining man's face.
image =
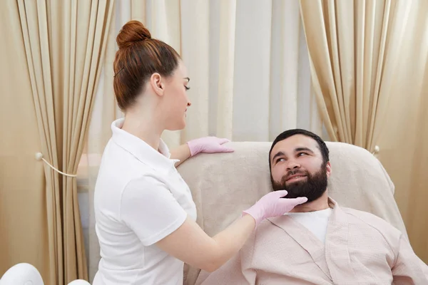
POLYGON ((272 175, 270 180, 274 191, 287 190, 288 194, 284 198, 307 197, 307 202, 312 202, 324 194, 327 190, 327 164, 323 163, 320 171, 315 174, 301 170, 290 170, 287 175, 282 176, 281 181, 274 181, 272 175), (291 182, 286 185, 285 181, 290 175, 301 174, 306 176, 306 180, 291 182))

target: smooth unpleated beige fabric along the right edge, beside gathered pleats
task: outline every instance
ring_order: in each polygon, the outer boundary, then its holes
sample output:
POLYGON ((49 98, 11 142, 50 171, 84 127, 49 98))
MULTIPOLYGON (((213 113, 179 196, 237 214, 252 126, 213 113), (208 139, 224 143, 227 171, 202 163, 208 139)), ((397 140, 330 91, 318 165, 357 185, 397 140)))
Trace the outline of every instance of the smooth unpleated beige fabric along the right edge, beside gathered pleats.
POLYGON ((412 247, 428 264, 428 1, 406 3, 411 6, 378 158, 396 186, 412 247))

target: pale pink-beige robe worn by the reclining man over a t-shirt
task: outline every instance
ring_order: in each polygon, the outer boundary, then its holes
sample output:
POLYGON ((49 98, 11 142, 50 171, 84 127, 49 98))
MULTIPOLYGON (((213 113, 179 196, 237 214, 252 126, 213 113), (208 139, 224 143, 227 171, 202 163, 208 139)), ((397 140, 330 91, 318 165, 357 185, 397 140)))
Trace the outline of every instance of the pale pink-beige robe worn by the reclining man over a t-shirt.
POLYGON ((428 284, 428 266, 399 230, 332 199, 330 207, 325 244, 292 217, 267 219, 239 254, 212 274, 201 271, 196 284, 428 284))

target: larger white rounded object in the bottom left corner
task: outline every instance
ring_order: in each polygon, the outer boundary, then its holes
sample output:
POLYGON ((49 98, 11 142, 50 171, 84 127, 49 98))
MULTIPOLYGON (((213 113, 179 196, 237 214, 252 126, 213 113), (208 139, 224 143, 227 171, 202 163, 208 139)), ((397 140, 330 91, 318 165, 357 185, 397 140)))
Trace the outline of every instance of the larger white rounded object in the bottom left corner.
POLYGON ((9 268, 0 279, 0 285, 44 285, 36 267, 19 263, 9 268))

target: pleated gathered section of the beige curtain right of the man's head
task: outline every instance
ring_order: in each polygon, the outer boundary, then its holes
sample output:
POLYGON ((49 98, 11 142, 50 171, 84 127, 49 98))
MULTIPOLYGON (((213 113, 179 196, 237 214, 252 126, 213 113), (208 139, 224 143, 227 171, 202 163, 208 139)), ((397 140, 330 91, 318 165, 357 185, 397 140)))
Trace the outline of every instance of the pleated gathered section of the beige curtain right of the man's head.
POLYGON ((331 140, 373 151, 384 125, 408 5, 301 0, 300 6, 312 86, 331 140))

